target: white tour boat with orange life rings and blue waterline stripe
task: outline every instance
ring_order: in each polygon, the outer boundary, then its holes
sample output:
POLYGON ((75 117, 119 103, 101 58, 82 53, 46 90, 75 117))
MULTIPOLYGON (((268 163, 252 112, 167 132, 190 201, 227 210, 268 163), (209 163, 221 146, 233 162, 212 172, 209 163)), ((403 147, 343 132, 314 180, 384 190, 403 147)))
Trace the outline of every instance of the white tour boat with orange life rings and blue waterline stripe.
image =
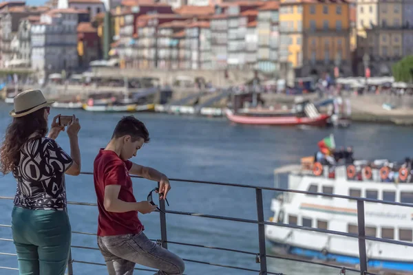
MULTIPOLYGON (((409 168, 386 160, 328 168, 319 163, 275 170, 275 187, 323 192, 351 197, 413 203, 409 168), (279 186, 281 174, 288 186, 279 186)), ((365 203, 366 236, 412 242, 413 208, 382 203, 365 203)), ((358 234, 357 201, 318 195, 283 192, 271 201, 269 221, 323 230, 358 234)), ((321 261, 359 264, 357 238, 266 225, 266 239, 275 250, 321 261)), ((413 247, 366 241, 368 267, 413 271, 413 247)))

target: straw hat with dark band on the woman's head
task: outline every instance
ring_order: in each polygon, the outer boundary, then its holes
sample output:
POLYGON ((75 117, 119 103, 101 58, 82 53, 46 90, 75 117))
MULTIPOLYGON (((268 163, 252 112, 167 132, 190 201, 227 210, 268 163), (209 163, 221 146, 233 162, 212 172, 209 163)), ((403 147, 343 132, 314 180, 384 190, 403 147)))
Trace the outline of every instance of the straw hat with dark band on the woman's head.
POLYGON ((41 90, 26 90, 14 97, 13 118, 20 118, 39 109, 50 106, 54 101, 46 101, 41 90))

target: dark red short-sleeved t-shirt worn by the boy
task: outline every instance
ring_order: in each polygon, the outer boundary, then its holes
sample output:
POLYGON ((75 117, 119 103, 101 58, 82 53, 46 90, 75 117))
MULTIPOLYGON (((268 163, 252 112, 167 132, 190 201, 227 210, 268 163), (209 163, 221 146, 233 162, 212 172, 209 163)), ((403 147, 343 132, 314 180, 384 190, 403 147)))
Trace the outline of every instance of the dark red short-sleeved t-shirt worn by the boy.
POLYGON ((138 234, 144 230, 138 219, 138 211, 123 213, 107 212, 103 206, 105 187, 111 184, 120 185, 118 199, 136 202, 129 170, 132 163, 123 161, 114 151, 100 149, 94 160, 94 185, 98 198, 98 236, 114 236, 138 234))

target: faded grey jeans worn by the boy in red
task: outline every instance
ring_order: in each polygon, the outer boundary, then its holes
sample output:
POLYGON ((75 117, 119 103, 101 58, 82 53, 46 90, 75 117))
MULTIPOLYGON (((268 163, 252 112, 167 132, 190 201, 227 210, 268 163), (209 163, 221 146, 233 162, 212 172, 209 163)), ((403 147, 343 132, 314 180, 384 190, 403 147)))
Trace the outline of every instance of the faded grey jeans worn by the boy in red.
POLYGON ((131 275, 135 264, 159 270, 156 275, 181 275, 185 264, 176 254, 156 245, 143 232, 98 236, 98 247, 109 275, 131 275))

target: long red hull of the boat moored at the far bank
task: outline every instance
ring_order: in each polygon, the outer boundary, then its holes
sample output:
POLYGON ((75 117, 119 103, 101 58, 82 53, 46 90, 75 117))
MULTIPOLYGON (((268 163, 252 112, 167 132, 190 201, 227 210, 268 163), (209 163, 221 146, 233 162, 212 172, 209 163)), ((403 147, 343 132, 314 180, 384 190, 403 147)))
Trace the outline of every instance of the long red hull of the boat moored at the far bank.
POLYGON ((275 117, 260 117, 246 116, 234 114, 231 110, 226 109, 226 118, 231 122, 239 124, 255 124, 255 125, 273 125, 273 126, 295 126, 295 125, 310 125, 310 126, 326 126, 329 115, 319 115, 317 118, 298 118, 295 116, 275 116, 275 117))

